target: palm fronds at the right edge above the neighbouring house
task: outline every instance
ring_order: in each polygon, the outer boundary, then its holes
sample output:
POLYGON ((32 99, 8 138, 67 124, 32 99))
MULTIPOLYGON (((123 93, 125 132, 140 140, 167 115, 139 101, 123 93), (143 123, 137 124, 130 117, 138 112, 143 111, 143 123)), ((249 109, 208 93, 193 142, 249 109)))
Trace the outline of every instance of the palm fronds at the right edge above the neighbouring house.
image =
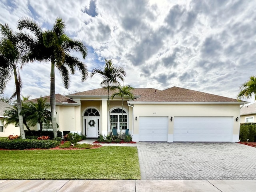
POLYGON ((237 98, 252 98, 252 94, 256 100, 256 76, 250 76, 249 80, 240 86, 240 93, 237 98))

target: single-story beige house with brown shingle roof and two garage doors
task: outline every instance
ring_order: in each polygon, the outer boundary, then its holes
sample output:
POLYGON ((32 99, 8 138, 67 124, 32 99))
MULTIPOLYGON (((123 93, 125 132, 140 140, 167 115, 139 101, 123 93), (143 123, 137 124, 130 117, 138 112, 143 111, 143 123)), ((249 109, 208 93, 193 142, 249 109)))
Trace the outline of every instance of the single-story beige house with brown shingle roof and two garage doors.
MULTIPOLYGON (((125 98, 123 110, 122 98, 110 98, 110 116, 108 91, 104 88, 67 96, 57 94, 59 130, 97 138, 100 134, 110 134, 110 128, 123 133, 129 129, 136 142, 239 140, 240 105, 248 102, 179 87, 166 90, 135 88, 132 92, 135 99, 125 98)), ((110 96, 113 93, 111 91, 110 96)), ((49 96, 46 98, 49 100, 49 96)))

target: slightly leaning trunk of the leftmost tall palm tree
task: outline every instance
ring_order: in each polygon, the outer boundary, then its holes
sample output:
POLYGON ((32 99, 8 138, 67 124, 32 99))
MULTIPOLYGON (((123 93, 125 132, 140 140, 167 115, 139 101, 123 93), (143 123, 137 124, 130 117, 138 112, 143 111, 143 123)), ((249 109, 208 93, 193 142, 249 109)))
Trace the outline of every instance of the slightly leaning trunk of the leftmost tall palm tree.
POLYGON ((20 82, 18 81, 17 70, 15 65, 13 65, 13 72, 14 72, 14 80, 15 80, 16 94, 17 94, 17 108, 18 108, 18 117, 19 117, 19 126, 20 126, 20 137, 22 139, 26 139, 24 124, 23 124, 23 116, 20 114, 22 110, 21 99, 20 99, 20 82))

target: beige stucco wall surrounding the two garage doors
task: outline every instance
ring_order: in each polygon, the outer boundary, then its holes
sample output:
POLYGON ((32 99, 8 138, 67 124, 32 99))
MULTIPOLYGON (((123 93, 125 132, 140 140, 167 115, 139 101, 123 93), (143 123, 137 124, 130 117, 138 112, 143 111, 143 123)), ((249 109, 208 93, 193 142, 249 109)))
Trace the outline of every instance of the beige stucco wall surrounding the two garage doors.
POLYGON ((134 104, 134 134, 139 134, 140 116, 168 116, 168 134, 173 134, 175 116, 231 116, 234 119, 233 134, 239 135, 239 105, 227 104, 134 104), (173 117, 172 122, 170 117, 173 117))

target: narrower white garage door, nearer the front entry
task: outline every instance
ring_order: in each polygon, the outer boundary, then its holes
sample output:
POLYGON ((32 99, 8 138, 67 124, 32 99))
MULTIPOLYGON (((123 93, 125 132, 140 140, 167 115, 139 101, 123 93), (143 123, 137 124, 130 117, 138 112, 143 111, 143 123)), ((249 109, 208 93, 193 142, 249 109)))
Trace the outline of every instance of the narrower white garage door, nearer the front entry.
POLYGON ((167 141, 168 117, 139 117, 139 141, 167 141))

